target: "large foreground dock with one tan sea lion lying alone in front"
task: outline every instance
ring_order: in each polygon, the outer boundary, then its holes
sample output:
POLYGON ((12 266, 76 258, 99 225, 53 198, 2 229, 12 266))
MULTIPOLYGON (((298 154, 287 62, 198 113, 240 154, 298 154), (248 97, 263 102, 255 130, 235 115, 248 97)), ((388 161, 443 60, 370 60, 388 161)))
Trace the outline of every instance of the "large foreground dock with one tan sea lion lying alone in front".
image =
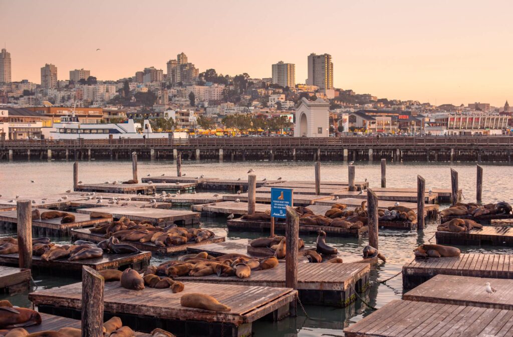
MULTIPOLYGON (((298 296, 290 288, 184 284, 182 292, 173 293, 149 287, 134 291, 121 287, 119 282, 106 282, 104 312, 119 316, 123 324, 144 332, 162 327, 177 336, 242 337, 251 335, 254 321, 265 316, 274 320, 287 316, 289 304, 298 296), (231 310, 216 312, 180 305, 183 295, 195 292, 209 294, 231 310)), ((41 312, 77 316, 82 310, 82 283, 32 292, 29 300, 41 312)))

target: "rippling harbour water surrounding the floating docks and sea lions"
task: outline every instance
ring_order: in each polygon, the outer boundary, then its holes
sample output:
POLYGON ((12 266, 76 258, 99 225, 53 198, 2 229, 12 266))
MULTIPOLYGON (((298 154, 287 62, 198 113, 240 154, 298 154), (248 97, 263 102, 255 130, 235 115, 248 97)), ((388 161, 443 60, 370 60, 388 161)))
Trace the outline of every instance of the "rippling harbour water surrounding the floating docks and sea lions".
MULTIPOLYGON (((182 172, 188 176, 199 176, 205 174, 207 177, 238 178, 247 176, 249 168, 255 170, 258 179, 267 177, 269 180, 282 176, 284 180, 313 180, 313 165, 311 162, 244 162, 244 163, 217 163, 217 162, 183 162, 182 172)), ((159 176, 175 175, 175 164, 167 162, 140 162, 139 175, 159 176)), ((511 202, 508 194, 513 187, 513 167, 498 165, 484 166, 484 202, 511 202)), ((464 202, 472 202, 476 199, 476 167, 468 164, 388 164, 387 186, 388 187, 415 187, 417 175, 420 174, 426 180, 426 189, 449 188, 450 167, 459 172, 459 187, 463 189, 464 202)), ((84 182, 121 181, 130 179, 132 176, 131 164, 129 162, 81 162, 79 168, 79 179, 84 182)), ((10 200, 16 194, 34 195, 44 197, 48 194, 62 193, 72 187, 73 168, 71 163, 66 162, 14 162, 0 164, 0 199, 10 200), (35 183, 30 183, 34 180, 35 183)), ((323 162, 321 168, 322 180, 347 181, 346 163, 323 162)), ((357 164, 357 181, 368 179, 370 186, 379 186, 381 182, 381 170, 379 162, 375 164, 357 164)), ((446 207, 447 205, 441 205, 446 207)), ((218 235, 227 235, 224 217, 203 217, 205 227, 213 230, 218 235)), ((401 271, 404 263, 413 257, 413 249, 420 244, 427 243, 432 239, 435 242, 436 225, 428 223, 421 233, 417 231, 385 230, 380 229, 379 248, 387 257, 387 262, 377 266, 371 271, 370 281, 388 279, 401 271)), ((0 235, 10 234, 0 231, 0 235)), ((11 232, 12 234, 12 232, 11 232)), ((232 232, 228 234, 228 240, 240 238, 258 237, 258 233, 232 232)), ((315 236, 301 235, 306 244, 313 244, 315 236)), ((69 241, 67 237, 58 241, 69 241)), ((328 237, 328 244, 337 247, 339 250, 361 254, 363 247, 367 245, 367 238, 362 239, 328 237)), ((513 253, 513 249, 500 247, 459 247, 463 252, 486 252, 486 253, 513 253)), ((152 264, 167 260, 165 256, 156 255, 152 258, 152 264)), ((76 279, 65 277, 50 277, 48 275, 35 275, 37 289, 51 288, 64 284, 76 282, 76 279)), ((391 300, 401 299, 403 293, 401 275, 394 277, 387 284, 374 284, 364 295, 365 300, 373 307, 380 308, 391 300)), ((30 306, 27 300, 27 293, 7 297, 0 294, 0 300, 8 298, 14 304, 30 306)), ((342 336, 342 329, 347 325, 357 322, 364 316, 373 312, 360 300, 349 308, 333 308, 321 306, 306 306, 308 314, 305 316, 299 310, 297 318, 288 318, 280 322, 257 322, 253 324, 254 336, 278 337, 278 336, 342 336)))

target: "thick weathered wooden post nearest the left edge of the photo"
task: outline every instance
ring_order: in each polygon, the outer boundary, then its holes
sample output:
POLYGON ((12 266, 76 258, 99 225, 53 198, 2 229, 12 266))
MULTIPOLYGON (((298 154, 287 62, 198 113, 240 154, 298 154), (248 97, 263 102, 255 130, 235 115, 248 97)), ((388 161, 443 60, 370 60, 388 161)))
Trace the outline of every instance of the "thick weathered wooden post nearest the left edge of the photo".
POLYGON ((32 202, 16 202, 19 268, 32 268, 32 202))

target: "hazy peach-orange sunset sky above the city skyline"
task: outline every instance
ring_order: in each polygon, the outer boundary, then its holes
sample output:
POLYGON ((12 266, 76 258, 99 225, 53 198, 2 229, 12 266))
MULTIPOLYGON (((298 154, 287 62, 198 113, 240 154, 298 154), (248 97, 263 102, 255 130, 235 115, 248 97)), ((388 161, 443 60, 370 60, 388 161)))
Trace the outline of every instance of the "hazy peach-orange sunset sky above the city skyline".
POLYGON ((307 77, 331 54, 334 86, 380 98, 455 105, 513 101, 512 1, 0 0, 12 80, 45 63, 117 80, 185 52, 200 72, 271 77, 278 61, 307 77), (100 48, 100 51, 96 51, 100 48))

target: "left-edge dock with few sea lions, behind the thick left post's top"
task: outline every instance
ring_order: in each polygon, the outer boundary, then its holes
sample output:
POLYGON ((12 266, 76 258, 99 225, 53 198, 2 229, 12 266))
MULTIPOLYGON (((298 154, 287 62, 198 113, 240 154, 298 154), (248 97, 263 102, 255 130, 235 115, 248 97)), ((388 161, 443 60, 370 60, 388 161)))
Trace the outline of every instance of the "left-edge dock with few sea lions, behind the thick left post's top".
MULTIPOLYGON (((41 213, 48 211, 47 209, 39 209, 41 213)), ((112 221, 111 219, 91 219, 89 214, 81 214, 74 212, 66 212, 75 216, 75 221, 69 224, 61 224, 62 217, 55 219, 35 219, 32 220, 32 231, 35 234, 44 235, 67 235, 73 228, 94 226, 96 224, 104 224, 112 221)), ((16 211, 0 212, 0 225, 15 229, 17 223, 16 211)))

